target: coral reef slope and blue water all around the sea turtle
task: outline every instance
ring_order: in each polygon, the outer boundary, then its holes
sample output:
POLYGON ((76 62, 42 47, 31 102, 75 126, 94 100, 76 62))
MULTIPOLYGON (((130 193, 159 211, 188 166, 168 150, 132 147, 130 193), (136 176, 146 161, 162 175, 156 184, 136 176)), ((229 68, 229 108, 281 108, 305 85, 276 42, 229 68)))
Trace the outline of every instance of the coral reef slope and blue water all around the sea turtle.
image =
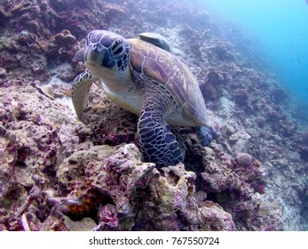
POLYGON ((0 0, 0 230, 308 230, 306 2, 0 0), (164 36, 215 134, 172 127, 184 164, 139 151, 99 81, 78 121, 85 38, 164 36))

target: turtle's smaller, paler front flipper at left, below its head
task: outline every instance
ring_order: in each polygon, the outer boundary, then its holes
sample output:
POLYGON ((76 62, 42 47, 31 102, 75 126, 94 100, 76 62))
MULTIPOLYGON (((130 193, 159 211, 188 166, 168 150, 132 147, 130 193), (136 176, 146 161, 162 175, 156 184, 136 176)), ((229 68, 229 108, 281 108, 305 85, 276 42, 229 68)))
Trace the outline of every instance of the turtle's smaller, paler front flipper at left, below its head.
POLYGON ((89 70, 84 71, 76 76, 72 86, 72 100, 75 108, 76 115, 79 120, 83 120, 83 109, 85 108, 89 99, 89 91, 92 83, 96 80, 91 75, 89 70))

